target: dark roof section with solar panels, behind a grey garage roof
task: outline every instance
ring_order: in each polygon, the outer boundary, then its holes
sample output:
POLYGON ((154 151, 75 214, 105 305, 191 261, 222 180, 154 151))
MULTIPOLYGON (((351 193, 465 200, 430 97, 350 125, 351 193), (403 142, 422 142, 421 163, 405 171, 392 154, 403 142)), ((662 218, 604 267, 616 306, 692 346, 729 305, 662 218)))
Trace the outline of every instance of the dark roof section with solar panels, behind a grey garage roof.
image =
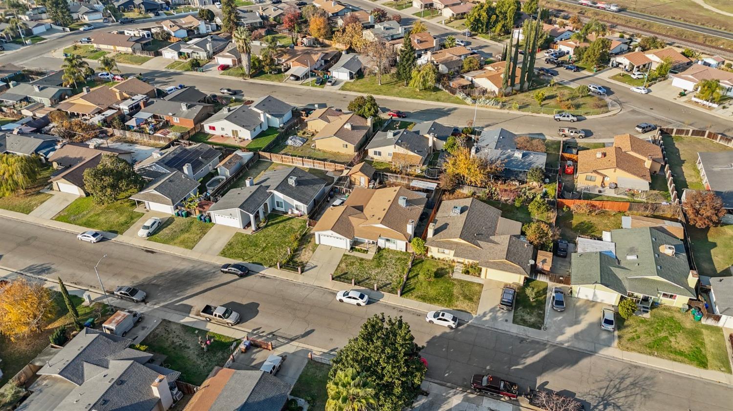
POLYGON ((154 180, 174 171, 199 181, 219 163, 221 153, 207 144, 174 146, 153 152, 149 158, 136 163, 135 171, 144 179, 154 180))

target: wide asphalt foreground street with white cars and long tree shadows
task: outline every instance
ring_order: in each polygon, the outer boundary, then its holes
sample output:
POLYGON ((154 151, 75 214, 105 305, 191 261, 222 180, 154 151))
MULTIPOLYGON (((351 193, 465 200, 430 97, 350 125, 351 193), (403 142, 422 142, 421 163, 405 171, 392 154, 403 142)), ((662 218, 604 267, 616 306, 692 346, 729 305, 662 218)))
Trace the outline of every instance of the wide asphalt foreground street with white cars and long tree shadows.
POLYGON ((337 349, 358 333, 367 316, 403 316, 424 344, 428 377, 466 387, 471 374, 493 373, 522 388, 542 386, 574 393, 586 410, 731 410, 733 390, 723 385, 572 349, 462 325, 427 324, 424 313, 385 303, 348 306, 334 292, 254 274, 218 273, 218 267, 114 241, 89 244, 73 233, 0 219, 0 266, 61 277, 67 284, 106 289, 133 285, 150 304, 196 314, 204 304, 239 311, 242 326, 323 349, 337 349))

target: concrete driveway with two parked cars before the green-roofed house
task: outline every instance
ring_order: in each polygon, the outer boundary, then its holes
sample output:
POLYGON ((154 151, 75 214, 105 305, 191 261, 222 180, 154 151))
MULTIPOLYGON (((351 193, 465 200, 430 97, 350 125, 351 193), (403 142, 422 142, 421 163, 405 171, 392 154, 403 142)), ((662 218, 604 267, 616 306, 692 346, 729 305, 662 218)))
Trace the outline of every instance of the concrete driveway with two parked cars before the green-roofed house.
POLYGON ((550 340, 567 342, 585 349, 616 347, 616 333, 600 329, 600 313, 608 304, 596 303, 582 298, 570 297, 569 287, 561 287, 565 292, 565 311, 553 310, 552 289, 548 287, 548 306, 545 324, 550 340))

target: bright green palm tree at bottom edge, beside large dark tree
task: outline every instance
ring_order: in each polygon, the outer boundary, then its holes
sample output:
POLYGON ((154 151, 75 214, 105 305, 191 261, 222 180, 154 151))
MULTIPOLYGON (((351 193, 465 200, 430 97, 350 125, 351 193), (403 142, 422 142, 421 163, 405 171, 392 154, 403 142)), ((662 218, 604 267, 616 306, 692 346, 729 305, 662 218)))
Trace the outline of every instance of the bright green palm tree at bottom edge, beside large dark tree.
POLYGON ((364 374, 357 374, 355 369, 336 372, 334 379, 326 385, 328 400, 326 411, 369 411, 375 410, 375 389, 367 381, 364 374))

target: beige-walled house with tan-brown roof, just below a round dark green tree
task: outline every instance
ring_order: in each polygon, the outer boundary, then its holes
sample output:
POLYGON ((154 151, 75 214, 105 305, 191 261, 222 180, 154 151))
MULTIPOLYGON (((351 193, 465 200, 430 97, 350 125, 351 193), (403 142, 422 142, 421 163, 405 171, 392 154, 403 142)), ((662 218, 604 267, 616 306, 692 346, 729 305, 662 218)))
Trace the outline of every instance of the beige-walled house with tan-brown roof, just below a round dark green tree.
POLYGON ((316 144, 316 149, 323 151, 356 155, 356 152, 372 133, 372 119, 365 119, 353 113, 342 113, 339 116, 322 116, 320 121, 309 122, 309 127, 318 129, 315 130, 313 141, 316 144))

